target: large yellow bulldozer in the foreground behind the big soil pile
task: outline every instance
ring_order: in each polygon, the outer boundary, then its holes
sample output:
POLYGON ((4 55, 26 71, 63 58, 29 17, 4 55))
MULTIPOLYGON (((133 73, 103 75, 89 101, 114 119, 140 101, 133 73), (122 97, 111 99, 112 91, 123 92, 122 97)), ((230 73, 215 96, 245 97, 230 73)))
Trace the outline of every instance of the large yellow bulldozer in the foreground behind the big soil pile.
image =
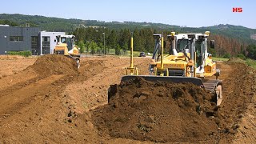
MULTIPOLYGON (((170 50, 168 50, 168 54, 164 54, 164 45, 167 42, 164 42, 163 34, 154 34, 155 46, 150 60, 150 74, 138 75, 137 68, 133 66, 131 52, 130 67, 127 68, 127 75, 123 76, 121 81, 126 82, 139 76, 153 82, 191 82, 214 93, 217 106, 220 105, 222 81, 218 80, 220 70, 216 68, 216 63, 208 53, 207 38, 209 35, 209 31, 203 34, 171 32, 170 35, 167 35, 170 50)), ((133 50, 132 41, 133 38, 131 38, 131 51, 133 50)), ((214 40, 210 41, 210 47, 214 48, 214 40)))

